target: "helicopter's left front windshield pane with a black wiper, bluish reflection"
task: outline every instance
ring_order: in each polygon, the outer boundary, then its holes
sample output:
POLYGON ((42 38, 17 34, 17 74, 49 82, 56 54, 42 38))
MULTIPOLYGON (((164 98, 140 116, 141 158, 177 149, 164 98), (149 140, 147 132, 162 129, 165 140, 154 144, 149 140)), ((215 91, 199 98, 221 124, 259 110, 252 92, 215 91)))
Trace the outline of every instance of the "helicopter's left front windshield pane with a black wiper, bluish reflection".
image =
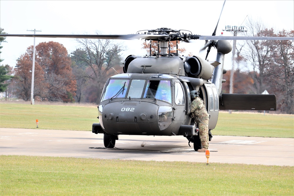
POLYGON ((108 85, 106 86, 105 93, 102 95, 102 101, 112 98, 124 98, 128 90, 128 84, 130 80, 109 80, 108 85))

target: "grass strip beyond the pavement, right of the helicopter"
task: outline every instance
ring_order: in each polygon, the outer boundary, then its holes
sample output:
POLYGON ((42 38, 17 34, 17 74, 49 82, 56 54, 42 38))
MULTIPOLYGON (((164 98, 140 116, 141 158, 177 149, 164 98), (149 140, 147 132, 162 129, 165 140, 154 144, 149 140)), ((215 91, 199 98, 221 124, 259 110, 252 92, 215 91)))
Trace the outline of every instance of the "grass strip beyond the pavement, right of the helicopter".
POLYGON ((294 137, 294 115, 220 112, 213 135, 294 137))

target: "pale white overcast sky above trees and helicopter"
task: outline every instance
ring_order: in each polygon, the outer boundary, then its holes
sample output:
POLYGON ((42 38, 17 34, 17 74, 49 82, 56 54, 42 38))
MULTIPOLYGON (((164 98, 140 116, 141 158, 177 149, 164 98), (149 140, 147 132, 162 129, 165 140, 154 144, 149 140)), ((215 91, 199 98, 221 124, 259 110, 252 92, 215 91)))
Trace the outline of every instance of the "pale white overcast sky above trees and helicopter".
MULTIPOLYGON (((139 30, 171 28, 185 29, 193 34, 211 35, 221 8, 218 1, 0 1, 0 27, 9 34, 132 34, 139 30)), ((220 35, 225 25, 244 25, 248 18, 261 20, 275 31, 294 29, 294 1, 233 1, 227 0, 218 25, 220 35), (247 17, 246 17, 247 16, 247 17), (243 23, 243 21, 245 22, 243 23), (242 24, 243 23, 243 24, 242 24)), ((224 35, 231 36, 229 32, 224 35)), ((2 64, 16 65, 16 59, 34 44, 34 38, 6 37, 2 43, 2 64)), ((68 53, 78 48, 72 38, 36 38, 40 42, 56 41, 68 53)), ((205 41, 181 43, 187 52, 198 55, 205 41)), ((145 55, 142 40, 123 41, 129 54, 145 55)), ((231 41, 233 44, 233 41, 231 41)), ((212 52, 211 52, 212 53, 212 52)), ((200 54, 205 56, 205 53, 200 54)), ((210 61, 215 56, 209 56, 210 61)), ((229 58, 229 57, 226 57, 229 58)), ((230 69, 231 65, 225 65, 230 69)))

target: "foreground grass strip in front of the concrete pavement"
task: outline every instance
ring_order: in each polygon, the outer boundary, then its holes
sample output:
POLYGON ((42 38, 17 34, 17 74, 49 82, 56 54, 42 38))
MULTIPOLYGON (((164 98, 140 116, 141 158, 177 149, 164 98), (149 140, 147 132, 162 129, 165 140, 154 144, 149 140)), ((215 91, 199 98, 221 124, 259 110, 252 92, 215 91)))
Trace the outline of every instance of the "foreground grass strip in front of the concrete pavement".
POLYGON ((1 195, 293 195, 293 167, 0 156, 1 195))

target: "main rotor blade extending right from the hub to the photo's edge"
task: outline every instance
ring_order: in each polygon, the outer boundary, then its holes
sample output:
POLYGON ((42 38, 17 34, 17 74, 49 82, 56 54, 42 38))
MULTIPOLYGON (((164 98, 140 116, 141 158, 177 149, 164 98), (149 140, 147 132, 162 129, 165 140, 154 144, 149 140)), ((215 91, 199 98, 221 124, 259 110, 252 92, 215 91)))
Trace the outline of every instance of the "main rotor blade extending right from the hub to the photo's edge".
POLYGON ((201 36, 195 35, 190 39, 199 40, 294 40, 294 37, 255 37, 255 36, 201 36))

